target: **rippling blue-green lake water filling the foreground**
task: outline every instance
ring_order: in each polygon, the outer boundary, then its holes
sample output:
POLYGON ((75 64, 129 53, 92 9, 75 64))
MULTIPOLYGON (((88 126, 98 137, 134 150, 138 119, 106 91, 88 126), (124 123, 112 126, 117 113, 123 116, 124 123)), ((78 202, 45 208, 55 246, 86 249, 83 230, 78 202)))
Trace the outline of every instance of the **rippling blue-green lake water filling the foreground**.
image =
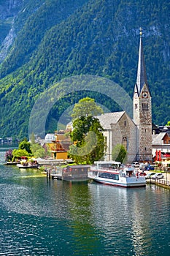
POLYGON ((0 255, 170 255, 170 190, 47 180, 3 165, 0 255))

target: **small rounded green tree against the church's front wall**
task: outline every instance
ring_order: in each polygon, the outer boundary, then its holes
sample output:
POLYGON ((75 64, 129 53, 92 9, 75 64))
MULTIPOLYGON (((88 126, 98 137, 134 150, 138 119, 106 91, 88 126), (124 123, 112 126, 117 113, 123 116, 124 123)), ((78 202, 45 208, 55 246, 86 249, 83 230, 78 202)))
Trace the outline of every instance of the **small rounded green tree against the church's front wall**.
POLYGON ((117 162, 125 162, 126 161, 127 151, 125 147, 121 144, 117 144, 112 150, 112 160, 117 162))

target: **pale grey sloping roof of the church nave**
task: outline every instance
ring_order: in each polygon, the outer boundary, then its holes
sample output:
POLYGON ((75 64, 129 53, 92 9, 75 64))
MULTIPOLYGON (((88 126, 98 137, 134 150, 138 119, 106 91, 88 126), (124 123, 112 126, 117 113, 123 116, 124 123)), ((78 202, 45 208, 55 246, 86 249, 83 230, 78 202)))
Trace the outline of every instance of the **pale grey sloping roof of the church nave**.
POLYGON ((97 116, 101 123, 101 127, 104 129, 110 129, 110 124, 117 124, 117 121, 123 116, 125 111, 104 113, 101 116, 97 116))

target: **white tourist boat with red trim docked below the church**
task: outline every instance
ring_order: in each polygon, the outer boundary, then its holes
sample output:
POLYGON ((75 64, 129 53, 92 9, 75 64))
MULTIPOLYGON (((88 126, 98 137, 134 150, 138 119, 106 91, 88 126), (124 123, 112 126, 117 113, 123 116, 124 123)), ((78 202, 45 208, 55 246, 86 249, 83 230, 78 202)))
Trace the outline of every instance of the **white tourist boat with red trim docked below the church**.
POLYGON ((102 184, 117 187, 145 187, 146 180, 134 167, 121 167, 120 162, 96 161, 90 168, 89 178, 102 184))

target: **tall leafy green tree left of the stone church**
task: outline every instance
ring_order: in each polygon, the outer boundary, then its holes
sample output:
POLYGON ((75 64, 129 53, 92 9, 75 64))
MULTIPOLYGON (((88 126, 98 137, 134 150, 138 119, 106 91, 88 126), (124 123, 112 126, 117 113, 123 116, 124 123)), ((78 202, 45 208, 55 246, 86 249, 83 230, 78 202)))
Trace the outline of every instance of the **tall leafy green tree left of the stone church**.
POLYGON ((73 131, 71 140, 74 145, 69 148, 69 155, 75 162, 93 163, 101 159, 105 151, 103 128, 98 115, 103 110, 96 105, 94 99, 84 98, 75 105, 72 113, 73 131))

